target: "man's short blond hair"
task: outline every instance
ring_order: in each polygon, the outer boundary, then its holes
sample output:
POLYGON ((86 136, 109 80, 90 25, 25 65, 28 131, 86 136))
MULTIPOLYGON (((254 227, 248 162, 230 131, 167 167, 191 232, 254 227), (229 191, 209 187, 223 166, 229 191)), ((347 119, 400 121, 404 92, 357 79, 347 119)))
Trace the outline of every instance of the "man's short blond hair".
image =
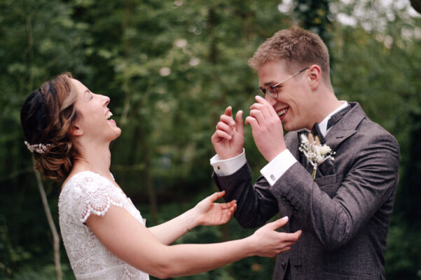
POLYGON ((290 73, 317 64, 324 80, 330 83, 329 50, 322 38, 310 31, 299 27, 277 31, 258 47, 249 59, 249 66, 257 70, 270 61, 287 62, 290 73))

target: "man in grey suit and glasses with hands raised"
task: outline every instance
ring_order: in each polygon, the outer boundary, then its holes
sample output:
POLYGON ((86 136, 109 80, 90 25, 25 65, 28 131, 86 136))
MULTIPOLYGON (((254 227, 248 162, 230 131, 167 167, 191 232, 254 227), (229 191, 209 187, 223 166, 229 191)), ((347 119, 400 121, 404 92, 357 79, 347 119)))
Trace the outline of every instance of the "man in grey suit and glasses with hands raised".
MULTIPOLYGON (((228 107, 216 125, 214 181, 237 200, 234 216, 256 228, 289 216, 281 230, 303 230, 277 256, 273 279, 385 279, 385 246, 398 183, 399 145, 358 103, 338 101, 322 39, 303 29, 268 38, 249 59, 259 91, 245 123, 268 165, 251 182, 242 111, 228 107), (289 133, 284 137, 282 130, 289 133), (317 135, 336 152, 316 169, 298 148, 317 135)), ((369 94, 369 93, 367 93, 369 94)))

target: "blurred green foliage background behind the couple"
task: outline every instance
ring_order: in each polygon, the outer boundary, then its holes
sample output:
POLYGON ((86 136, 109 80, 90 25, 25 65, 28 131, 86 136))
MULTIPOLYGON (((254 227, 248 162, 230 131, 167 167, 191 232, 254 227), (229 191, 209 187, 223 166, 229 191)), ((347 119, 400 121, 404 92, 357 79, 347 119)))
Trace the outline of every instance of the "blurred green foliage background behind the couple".
MULTIPOLYGON (((71 71, 111 97, 123 130, 111 147, 111 172, 149 225, 161 223, 216 190, 209 158, 219 115, 228 105, 247 115, 258 83, 247 59, 291 25, 326 41, 338 98, 360 102, 398 139, 387 279, 420 279, 421 20, 404 0, 0 0, 0 279, 56 277, 53 237, 20 129, 20 107, 32 90, 71 71)), ((249 127, 245 133, 256 177, 265 160, 249 127)), ((44 183, 57 223, 60 184, 44 183)), ((252 232, 230 221, 179 242, 252 232)), ((74 279, 61 253, 64 279, 74 279)), ((273 259, 247 258, 179 279, 271 279, 273 266, 273 259)))

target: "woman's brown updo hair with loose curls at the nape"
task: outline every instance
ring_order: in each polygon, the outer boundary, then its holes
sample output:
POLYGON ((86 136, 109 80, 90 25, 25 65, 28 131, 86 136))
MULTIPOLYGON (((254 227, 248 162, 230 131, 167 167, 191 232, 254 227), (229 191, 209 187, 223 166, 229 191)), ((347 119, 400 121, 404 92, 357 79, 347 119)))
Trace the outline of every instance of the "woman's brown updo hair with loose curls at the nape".
POLYGON ((77 93, 71 73, 43 83, 26 99, 20 111, 25 140, 31 144, 50 145, 44 153, 34 151, 35 168, 48 179, 64 180, 78 155, 68 133, 79 113, 74 106, 77 93))

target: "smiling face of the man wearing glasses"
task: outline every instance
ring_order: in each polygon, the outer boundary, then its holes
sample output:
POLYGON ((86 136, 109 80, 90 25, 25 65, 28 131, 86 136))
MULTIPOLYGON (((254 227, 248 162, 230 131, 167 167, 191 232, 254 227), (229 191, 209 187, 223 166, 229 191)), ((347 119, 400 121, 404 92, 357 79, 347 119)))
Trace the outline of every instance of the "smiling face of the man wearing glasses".
MULTIPOLYGON (((298 69, 299 70, 299 69, 298 69)), ((270 61, 260 66, 257 70, 258 85, 265 88, 268 85, 276 85, 294 73, 289 73, 284 62, 270 61)), ((265 94, 265 99, 273 106, 279 119, 287 131, 311 130, 312 118, 312 94, 308 90, 308 71, 289 78, 276 87, 278 97, 275 99, 265 94)), ((314 110, 314 109, 313 109, 314 110)))

